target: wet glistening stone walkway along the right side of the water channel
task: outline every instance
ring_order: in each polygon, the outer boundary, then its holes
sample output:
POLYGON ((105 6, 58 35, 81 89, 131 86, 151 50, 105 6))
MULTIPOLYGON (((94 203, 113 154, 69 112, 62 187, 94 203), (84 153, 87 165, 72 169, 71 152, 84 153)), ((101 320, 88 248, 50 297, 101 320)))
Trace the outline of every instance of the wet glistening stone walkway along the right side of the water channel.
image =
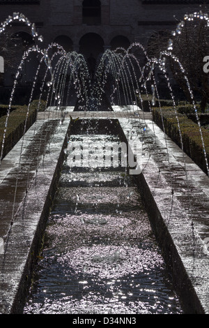
POLYGON ((176 290, 188 313, 209 313, 209 178, 153 122, 119 122, 132 149, 141 142, 141 195, 176 290))

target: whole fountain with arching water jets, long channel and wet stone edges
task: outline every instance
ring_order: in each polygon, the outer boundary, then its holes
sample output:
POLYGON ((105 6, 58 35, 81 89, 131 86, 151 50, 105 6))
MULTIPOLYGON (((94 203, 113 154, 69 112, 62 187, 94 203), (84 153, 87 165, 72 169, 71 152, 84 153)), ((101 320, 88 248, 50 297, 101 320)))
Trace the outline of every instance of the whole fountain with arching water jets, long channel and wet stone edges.
MULTIPOLYGON (((185 16, 185 20, 192 18, 208 22, 207 15, 194 13, 193 16, 185 16)), ((35 25, 20 13, 14 13, 3 22, 0 35, 15 20, 24 22, 31 28, 31 35, 38 44, 42 43, 42 36, 38 36, 35 25)), ((183 22, 178 24, 173 37, 180 33, 183 25, 183 22)), ((134 43, 127 50, 107 50, 100 59, 91 88, 88 67, 81 54, 66 53, 55 43, 45 50, 36 45, 24 53, 8 104, 1 148, 1 313, 49 313, 50 308, 56 313, 68 313, 69 308, 72 313, 182 313, 178 299, 171 291, 162 295, 165 299, 163 310, 159 307, 161 301, 155 301, 159 297, 158 294, 155 297, 156 290, 161 293, 166 288, 162 283, 164 261, 184 311, 208 313, 208 158, 194 101, 206 173, 184 152, 176 100, 167 74, 168 58, 172 57, 179 65, 189 94, 194 98, 185 70, 172 54, 172 45, 173 41, 169 40, 167 50, 162 51, 158 59, 150 59, 139 43, 134 43), (27 106, 24 133, 4 157, 18 77, 31 53, 37 54, 39 64, 27 106), (141 58, 146 60, 146 64, 141 65, 141 58), (155 79, 156 67, 167 82, 180 148, 165 133, 162 100, 155 79), (36 121, 26 131, 40 73, 42 80, 36 121), (77 96, 75 106, 69 106, 72 91, 77 96), (43 96, 45 108, 40 111, 43 96), (162 117, 162 129, 152 120, 156 104, 162 117), (148 106, 148 112, 145 106, 148 106), (87 155, 84 147, 86 137, 87 155), (122 167, 118 163, 116 167, 111 165, 108 168, 107 163, 106 166, 105 163, 101 165, 100 160, 105 157, 102 142, 110 142, 109 149, 113 148, 113 144, 122 142, 125 149, 125 156, 122 149, 122 167), (70 156, 73 147, 77 147, 78 152, 70 156), (87 163, 89 149, 93 156, 91 164, 87 163), (99 161, 95 149, 102 154, 99 161), (70 162, 70 158, 75 158, 75 161, 70 162), (79 183, 82 186, 79 187, 79 183), (104 193, 103 184, 109 193, 104 193), (134 184, 137 184, 140 196, 134 184), (61 189, 58 189, 58 198, 54 198, 58 185, 61 189), (59 207, 56 207, 57 204, 59 207), (111 204, 111 211, 107 204, 111 204), (90 212, 85 212, 88 207, 90 212), (126 216, 128 208, 130 214, 126 216), (142 216, 138 216, 136 211, 139 208, 142 216), (145 220, 146 212, 150 223, 145 220), (49 241, 49 249, 43 248, 45 258, 42 258, 40 250, 47 218, 47 236, 54 239, 49 241), (54 221, 58 225, 54 225, 54 221), (150 237, 151 231, 155 233, 160 248, 150 237), (62 236, 65 236, 63 240, 62 236), (61 252, 62 244, 67 246, 65 256, 54 255, 53 249, 61 252), (72 244, 79 244, 79 247, 72 247, 72 244), (148 248, 145 248, 146 244, 148 248), (65 303, 56 298, 47 303, 49 293, 53 293, 54 289, 49 288, 50 281, 47 281, 47 287, 42 288, 40 280, 39 296, 45 299, 42 310, 36 309, 36 303, 33 308, 30 301, 24 310, 25 297, 38 260, 39 266, 43 266, 42 271, 52 269, 53 279, 59 271, 61 284, 66 274, 65 283, 69 283, 70 288, 68 295, 63 297, 65 303), (70 275, 69 270, 65 271, 69 266, 70 275), (152 275, 157 275, 157 283, 152 275), (122 279, 124 276, 128 278, 122 279), (96 277, 100 280, 97 281, 96 277), (149 282, 147 277, 150 277, 149 282), (145 281, 143 301, 139 298, 140 279, 145 281), (132 286, 130 290, 125 283, 132 286), (149 283, 157 286, 156 290, 147 288, 149 283), (93 289, 89 290, 91 284, 93 289), (108 288, 105 289, 104 285, 108 288), (77 295, 84 296, 77 302, 70 295, 72 286, 76 286, 77 295), (136 291, 137 295, 134 294, 136 291), (97 293, 98 303, 95 301, 97 293), (145 306, 148 295, 152 295, 150 305, 145 306)), ((67 288, 65 284, 64 288, 67 288)))

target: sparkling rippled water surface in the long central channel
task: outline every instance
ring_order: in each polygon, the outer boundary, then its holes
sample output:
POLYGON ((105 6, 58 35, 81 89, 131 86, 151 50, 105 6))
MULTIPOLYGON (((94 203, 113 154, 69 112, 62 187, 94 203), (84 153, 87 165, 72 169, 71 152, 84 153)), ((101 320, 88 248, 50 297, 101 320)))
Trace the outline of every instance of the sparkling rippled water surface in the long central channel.
POLYGON ((24 313, 183 313, 133 177, 72 166, 67 158, 24 313))

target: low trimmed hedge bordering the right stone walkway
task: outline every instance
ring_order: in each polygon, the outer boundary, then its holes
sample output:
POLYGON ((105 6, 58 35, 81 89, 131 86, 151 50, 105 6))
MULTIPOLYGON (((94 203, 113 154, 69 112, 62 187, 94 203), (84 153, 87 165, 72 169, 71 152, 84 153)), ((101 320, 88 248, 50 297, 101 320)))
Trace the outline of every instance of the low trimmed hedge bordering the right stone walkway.
MULTIPOLYGON (((188 119, 187 115, 182 113, 177 114, 177 119, 175 110, 172 107, 162 107, 161 110, 158 107, 153 107, 152 110, 153 121, 155 121, 157 126, 159 126, 162 130, 164 124, 164 132, 169 135, 171 140, 176 142, 180 148, 182 148, 182 143, 180 140, 181 132, 183 150, 197 165, 199 165, 203 172, 208 174, 199 125, 194 123, 192 119, 188 119), (180 131, 178 128, 178 121, 180 131)), ((206 128, 201 128, 201 132, 203 135, 206 156, 209 162, 209 131, 206 130, 206 128)))

